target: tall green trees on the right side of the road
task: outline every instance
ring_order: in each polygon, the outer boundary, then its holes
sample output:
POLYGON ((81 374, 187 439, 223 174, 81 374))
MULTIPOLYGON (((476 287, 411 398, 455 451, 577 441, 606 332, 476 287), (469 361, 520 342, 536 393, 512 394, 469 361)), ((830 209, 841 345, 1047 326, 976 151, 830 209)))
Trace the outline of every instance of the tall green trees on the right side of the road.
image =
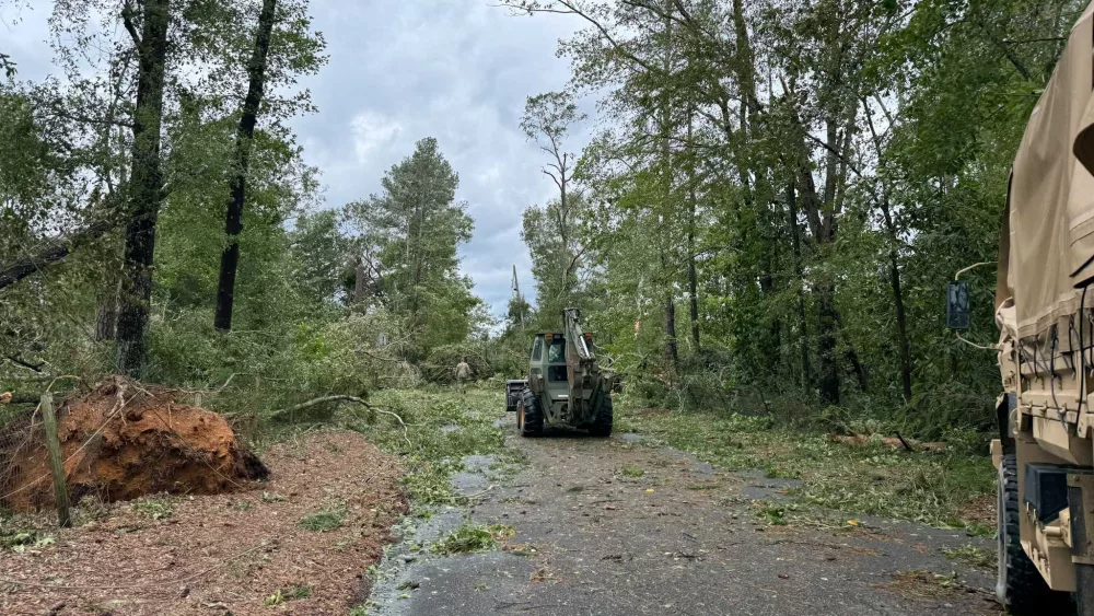
POLYGON ((963 279, 971 337, 994 342, 1010 165, 1087 2, 503 3, 584 26, 558 49, 567 89, 525 116, 559 188, 524 217, 537 325, 582 306, 654 404, 992 422, 996 355, 945 328, 944 287, 985 264, 963 279))

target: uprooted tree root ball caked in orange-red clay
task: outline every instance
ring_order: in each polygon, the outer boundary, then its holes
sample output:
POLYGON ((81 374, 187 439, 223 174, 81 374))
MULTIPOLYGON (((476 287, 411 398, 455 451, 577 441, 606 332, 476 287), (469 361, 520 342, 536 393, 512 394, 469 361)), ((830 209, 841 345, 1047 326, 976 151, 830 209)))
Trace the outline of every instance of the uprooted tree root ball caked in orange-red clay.
MULTIPOLYGON (((0 439, 0 504, 22 512, 51 505, 40 416, 8 432, 0 439)), ((89 495, 107 502, 160 492, 213 495, 268 474, 223 416, 121 377, 65 400, 58 434, 73 501, 89 495)))

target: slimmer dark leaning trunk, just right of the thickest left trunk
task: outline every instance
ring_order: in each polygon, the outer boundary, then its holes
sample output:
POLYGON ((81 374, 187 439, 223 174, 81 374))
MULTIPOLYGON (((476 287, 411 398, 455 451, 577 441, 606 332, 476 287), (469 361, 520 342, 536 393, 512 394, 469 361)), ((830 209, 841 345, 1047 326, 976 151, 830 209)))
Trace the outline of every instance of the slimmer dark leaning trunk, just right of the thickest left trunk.
POLYGON ((243 232, 243 205, 247 198, 247 171, 251 167, 251 148, 258 123, 258 107, 263 102, 266 85, 266 56, 269 53, 270 36, 277 0, 263 0, 263 12, 258 16, 258 33, 255 35, 255 50, 247 63, 251 83, 247 98, 243 103, 243 117, 235 137, 235 177, 232 178, 232 196, 228 202, 224 233, 229 245, 220 258, 220 286, 217 290, 217 314, 213 324, 217 329, 232 328, 232 309, 235 303, 235 274, 240 265, 240 233, 243 232))

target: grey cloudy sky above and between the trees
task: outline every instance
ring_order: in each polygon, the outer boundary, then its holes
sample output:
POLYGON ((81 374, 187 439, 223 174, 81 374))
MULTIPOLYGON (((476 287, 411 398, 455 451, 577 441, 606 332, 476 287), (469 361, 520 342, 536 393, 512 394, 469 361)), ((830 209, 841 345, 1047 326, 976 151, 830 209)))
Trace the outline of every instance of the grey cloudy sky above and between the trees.
MULTIPOLYGON (((469 204, 475 237, 461 251, 463 271, 497 314, 511 294, 516 265, 531 295, 521 212, 554 185, 521 132, 528 95, 562 88, 569 62, 559 38, 580 24, 562 15, 512 16, 492 0, 312 0, 329 65, 304 85, 317 115, 293 123, 305 159, 319 167, 329 207, 380 190, 384 171, 435 137, 459 173, 457 198, 469 204)), ((46 19, 53 2, 0 9, 3 50, 20 78, 51 70, 46 19)), ((573 140, 580 151, 584 138, 573 140)))

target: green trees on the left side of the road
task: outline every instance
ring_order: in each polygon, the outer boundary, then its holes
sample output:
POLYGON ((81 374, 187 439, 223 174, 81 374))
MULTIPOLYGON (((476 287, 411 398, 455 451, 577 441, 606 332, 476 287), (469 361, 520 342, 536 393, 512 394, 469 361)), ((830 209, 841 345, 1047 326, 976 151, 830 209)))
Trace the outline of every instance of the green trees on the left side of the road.
POLYGON ((261 419, 443 380, 486 335, 437 140, 380 194, 323 201, 287 126, 317 112, 298 80, 327 61, 307 0, 58 1, 49 24, 56 77, 2 57, 9 408, 120 373, 261 419))

